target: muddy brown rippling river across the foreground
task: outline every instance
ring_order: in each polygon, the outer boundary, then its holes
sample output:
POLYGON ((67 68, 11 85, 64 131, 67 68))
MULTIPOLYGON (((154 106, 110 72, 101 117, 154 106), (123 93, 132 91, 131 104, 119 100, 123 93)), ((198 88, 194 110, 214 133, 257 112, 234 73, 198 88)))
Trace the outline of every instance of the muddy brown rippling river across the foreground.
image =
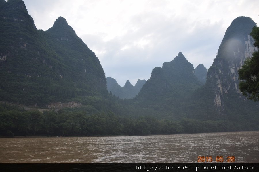
POLYGON ((0 138, 0 163, 197 163, 198 156, 205 162, 211 156, 212 163, 259 163, 259 131, 0 138))

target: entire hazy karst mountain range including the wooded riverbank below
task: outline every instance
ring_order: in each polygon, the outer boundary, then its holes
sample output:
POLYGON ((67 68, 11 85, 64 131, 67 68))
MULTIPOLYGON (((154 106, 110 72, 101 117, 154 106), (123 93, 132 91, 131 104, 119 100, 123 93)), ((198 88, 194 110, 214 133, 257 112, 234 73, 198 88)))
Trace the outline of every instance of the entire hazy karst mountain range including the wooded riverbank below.
POLYGON ((48 30, 37 30, 22 0, 0 0, 1 134, 258 130, 259 104, 242 96, 237 73, 257 50, 249 35, 254 26, 249 17, 234 19, 208 71, 202 64, 194 69, 179 52, 154 67, 147 81, 133 86, 128 80, 120 87, 105 78, 98 58, 66 19, 59 17, 48 30))

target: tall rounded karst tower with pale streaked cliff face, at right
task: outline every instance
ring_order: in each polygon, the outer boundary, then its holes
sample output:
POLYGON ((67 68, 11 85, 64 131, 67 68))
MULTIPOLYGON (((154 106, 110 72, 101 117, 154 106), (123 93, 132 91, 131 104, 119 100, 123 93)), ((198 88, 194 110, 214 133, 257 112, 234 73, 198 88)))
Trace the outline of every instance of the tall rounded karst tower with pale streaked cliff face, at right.
POLYGON ((208 70, 206 87, 213 92, 214 106, 220 116, 224 116, 224 106, 232 95, 239 97, 240 101, 246 101, 239 91, 238 69, 257 50, 249 35, 254 26, 256 23, 249 17, 233 20, 218 49, 218 55, 208 70))

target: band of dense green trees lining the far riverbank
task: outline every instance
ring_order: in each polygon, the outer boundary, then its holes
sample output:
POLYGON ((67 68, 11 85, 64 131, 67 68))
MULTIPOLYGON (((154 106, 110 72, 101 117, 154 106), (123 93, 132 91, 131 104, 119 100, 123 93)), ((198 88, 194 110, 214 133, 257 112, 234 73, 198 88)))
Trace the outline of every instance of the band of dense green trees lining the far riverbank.
POLYGON ((112 111, 98 111, 91 105, 41 113, 2 104, 0 118, 0 135, 9 137, 115 136, 258 130, 256 121, 255 125, 251 125, 253 121, 190 118, 174 121, 141 114, 138 117, 127 117, 115 115, 112 111))

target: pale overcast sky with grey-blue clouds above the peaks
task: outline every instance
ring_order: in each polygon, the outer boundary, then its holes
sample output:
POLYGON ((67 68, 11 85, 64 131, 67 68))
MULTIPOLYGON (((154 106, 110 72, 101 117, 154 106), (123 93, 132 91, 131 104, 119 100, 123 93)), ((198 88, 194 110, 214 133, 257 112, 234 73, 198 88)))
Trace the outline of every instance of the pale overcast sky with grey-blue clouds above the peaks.
POLYGON ((231 21, 259 23, 258 0, 24 0, 37 29, 64 17, 123 87, 182 52, 208 69, 231 21))

